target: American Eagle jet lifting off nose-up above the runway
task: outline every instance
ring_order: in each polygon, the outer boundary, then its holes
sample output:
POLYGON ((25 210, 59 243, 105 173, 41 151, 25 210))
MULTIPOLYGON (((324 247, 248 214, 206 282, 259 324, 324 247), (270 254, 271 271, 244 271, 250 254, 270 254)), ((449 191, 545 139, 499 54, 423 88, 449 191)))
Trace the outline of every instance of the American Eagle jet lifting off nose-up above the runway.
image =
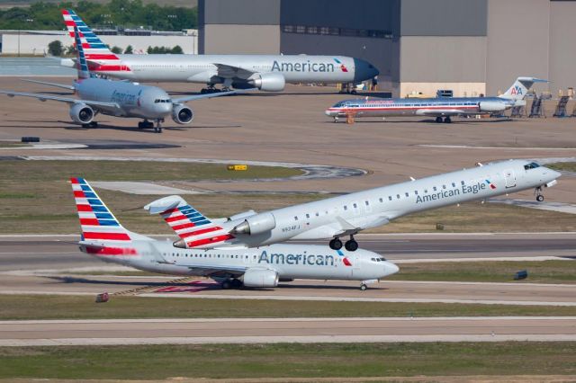
POLYGON ((250 210, 225 219, 206 218, 178 196, 156 200, 145 209, 160 214, 174 228, 180 236, 176 248, 258 247, 289 239, 332 238, 330 248, 339 250, 340 238, 349 236, 345 248, 354 252, 357 233, 392 219, 532 188, 542 201, 543 188, 554 186, 560 176, 534 162, 509 160, 284 209, 250 210))

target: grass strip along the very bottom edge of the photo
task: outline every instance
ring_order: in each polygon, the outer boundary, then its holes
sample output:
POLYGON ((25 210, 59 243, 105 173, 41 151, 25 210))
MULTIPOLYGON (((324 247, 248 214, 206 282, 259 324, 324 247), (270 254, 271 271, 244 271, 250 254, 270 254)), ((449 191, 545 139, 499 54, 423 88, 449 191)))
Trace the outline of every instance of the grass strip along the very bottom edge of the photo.
POLYGON ((4 379, 357 378, 576 373, 576 343, 279 343, 0 349, 4 379))

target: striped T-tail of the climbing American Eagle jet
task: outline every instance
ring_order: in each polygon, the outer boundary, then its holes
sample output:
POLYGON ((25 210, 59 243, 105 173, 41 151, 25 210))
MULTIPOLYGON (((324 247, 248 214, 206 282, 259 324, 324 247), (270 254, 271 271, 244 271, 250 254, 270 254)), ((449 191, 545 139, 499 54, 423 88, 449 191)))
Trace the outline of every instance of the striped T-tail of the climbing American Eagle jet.
POLYGON ((175 247, 213 248, 234 238, 223 227, 193 209, 177 195, 150 202, 144 209, 150 214, 159 214, 172 227, 180 237, 180 240, 174 243, 175 247))

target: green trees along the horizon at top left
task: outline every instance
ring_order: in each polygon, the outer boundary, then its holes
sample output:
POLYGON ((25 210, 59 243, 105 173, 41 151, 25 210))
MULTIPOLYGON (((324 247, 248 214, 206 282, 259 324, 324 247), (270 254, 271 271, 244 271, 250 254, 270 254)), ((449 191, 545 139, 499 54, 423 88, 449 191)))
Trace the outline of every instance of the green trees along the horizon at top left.
POLYGON ((143 4, 141 0, 79 1, 77 4, 40 1, 27 7, 0 9, 0 30, 61 31, 66 28, 61 14, 65 8, 74 9, 92 28, 143 27, 155 31, 182 31, 195 29, 198 25, 196 8, 143 4))

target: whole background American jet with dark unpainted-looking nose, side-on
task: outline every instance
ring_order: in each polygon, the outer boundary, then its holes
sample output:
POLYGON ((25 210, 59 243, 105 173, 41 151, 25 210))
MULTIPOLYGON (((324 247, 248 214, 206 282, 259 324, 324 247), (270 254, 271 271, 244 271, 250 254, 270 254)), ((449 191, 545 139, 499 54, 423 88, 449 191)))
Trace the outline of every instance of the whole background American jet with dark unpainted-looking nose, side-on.
MULTIPOLYGON (((80 31, 90 70, 98 75, 139 82, 206 84, 279 92, 286 83, 359 84, 378 75, 378 69, 359 58, 307 55, 116 55, 71 9, 62 10, 71 37, 80 31)), ((63 65, 72 64, 63 60, 63 65)))

